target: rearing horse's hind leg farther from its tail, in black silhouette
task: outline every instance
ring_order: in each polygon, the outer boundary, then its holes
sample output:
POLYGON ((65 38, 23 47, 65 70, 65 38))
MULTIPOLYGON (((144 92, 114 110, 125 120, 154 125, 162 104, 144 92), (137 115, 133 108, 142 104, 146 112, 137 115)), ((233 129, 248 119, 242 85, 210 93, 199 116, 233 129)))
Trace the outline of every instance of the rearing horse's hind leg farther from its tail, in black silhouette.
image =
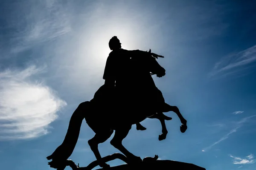
POLYGON ((135 156, 122 145, 122 140, 125 139, 125 137, 128 135, 130 129, 131 129, 131 125, 116 129, 115 135, 110 143, 113 145, 113 147, 120 150, 127 157, 129 162, 131 163, 141 162, 142 159, 139 156, 135 156))

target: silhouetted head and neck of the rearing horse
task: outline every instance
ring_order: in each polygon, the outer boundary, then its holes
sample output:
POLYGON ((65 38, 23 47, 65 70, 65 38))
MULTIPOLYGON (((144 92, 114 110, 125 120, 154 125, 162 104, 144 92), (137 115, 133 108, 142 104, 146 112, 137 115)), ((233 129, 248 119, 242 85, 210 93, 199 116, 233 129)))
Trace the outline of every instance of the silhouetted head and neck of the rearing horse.
POLYGON ((165 69, 157 62, 156 58, 152 57, 151 50, 148 51, 147 56, 132 58, 133 70, 136 74, 156 74, 157 77, 163 77, 165 69))

